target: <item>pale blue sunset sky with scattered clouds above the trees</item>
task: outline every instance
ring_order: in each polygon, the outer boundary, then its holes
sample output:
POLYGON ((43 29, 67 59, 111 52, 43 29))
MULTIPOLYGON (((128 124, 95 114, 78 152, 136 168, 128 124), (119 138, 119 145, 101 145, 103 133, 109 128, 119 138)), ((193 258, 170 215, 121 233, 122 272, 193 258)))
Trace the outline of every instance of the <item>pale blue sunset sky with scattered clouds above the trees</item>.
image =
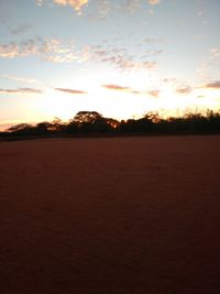
POLYGON ((219 0, 0 0, 0 129, 220 109, 219 0))

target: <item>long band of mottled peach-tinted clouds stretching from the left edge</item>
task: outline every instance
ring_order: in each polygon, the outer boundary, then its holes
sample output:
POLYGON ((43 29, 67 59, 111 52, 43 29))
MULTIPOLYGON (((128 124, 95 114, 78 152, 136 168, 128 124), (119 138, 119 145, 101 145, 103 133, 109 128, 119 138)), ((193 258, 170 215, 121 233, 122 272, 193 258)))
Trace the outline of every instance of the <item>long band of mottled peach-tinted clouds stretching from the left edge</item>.
POLYGON ((30 55, 40 56, 52 63, 82 63, 86 61, 106 63, 120 70, 154 70, 155 61, 148 61, 148 55, 158 56, 163 51, 153 50, 145 55, 134 55, 132 50, 114 45, 94 45, 76 47, 73 41, 63 42, 58 39, 44 40, 42 37, 26 39, 16 43, 0 43, 0 57, 19 58, 30 55))

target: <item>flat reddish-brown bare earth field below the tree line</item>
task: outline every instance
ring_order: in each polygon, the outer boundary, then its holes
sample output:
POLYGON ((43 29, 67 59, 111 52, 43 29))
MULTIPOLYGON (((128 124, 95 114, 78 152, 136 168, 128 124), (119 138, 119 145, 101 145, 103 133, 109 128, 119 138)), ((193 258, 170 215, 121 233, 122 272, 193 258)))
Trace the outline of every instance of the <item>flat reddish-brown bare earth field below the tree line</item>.
POLYGON ((0 293, 220 293, 220 137, 0 142, 0 293))

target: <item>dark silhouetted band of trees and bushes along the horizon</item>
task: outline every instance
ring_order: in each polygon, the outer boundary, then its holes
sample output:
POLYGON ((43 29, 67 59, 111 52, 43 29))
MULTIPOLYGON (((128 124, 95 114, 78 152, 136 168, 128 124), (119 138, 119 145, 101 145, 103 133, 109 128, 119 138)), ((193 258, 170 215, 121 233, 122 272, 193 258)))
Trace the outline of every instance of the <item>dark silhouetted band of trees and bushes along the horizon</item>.
POLYGON ((35 137, 85 137, 85 135, 135 135, 135 134, 200 134, 220 133, 220 112, 207 110, 206 115, 186 113, 183 117, 164 119, 158 113, 148 112, 140 119, 118 121, 105 118, 97 111, 79 111, 74 119, 63 122, 55 118, 52 122, 35 126, 20 123, 1 132, 10 139, 35 137))

